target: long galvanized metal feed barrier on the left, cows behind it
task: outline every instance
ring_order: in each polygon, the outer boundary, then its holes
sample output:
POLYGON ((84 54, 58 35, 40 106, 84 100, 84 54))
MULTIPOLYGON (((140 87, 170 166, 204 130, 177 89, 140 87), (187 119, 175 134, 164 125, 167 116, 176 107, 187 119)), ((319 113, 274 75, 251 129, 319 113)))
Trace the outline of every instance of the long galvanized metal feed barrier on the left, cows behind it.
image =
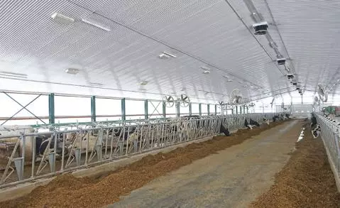
MULTIPOLYGON (((158 148, 219 134, 223 124, 229 131, 243 128, 244 119, 263 123, 274 114, 202 116, 199 119, 162 119, 138 121, 136 125, 97 125, 70 130, 20 133, 0 136, 0 146, 12 138, 12 148, 0 172, 0 188, 88 168, 101 163, 145 153, 158 148), (37 136, 50 133, 43 153, 37 152, 37 136), (14 138, 14 140, 13 140, 14 138)), ((39 147, 38 147, 39 148, 39 147)), ((4 158, 2 158, 4 159, 4 158)), ((3 161, 3 160, 0 160, 3 161)))

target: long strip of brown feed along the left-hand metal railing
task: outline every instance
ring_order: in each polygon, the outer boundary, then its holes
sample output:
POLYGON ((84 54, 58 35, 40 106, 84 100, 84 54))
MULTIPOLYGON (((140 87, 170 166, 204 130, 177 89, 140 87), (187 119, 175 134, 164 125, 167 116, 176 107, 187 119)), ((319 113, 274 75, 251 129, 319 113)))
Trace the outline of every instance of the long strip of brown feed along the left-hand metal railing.
POLYGON ((192 163, 194 160, 214 154, 230 146, 242 143, 261 131, 282 124, 271 123, 249 131, 241 129, 232 136, 216 136, 202 143, 191 143, 169 153, 147 155, 131 165, 120 168, 99 178, 76 178, 70 174, 61 175, 48 185, 33 190, 29 195, 7 202, 0 207, 102 207, 119 201, 156 177, 192 163))

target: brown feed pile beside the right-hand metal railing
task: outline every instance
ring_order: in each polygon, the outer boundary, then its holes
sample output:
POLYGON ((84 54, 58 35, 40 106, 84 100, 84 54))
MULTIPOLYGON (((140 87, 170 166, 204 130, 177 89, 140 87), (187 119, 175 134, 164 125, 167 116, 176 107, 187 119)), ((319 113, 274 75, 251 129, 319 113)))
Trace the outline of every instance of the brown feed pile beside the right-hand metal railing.
POLYGON ((275 185, 258 197, 252 208, 340 207, 340 194, 322 139, 314 139, 310 128, 305 127, 305 138, 275 176, 275 185))

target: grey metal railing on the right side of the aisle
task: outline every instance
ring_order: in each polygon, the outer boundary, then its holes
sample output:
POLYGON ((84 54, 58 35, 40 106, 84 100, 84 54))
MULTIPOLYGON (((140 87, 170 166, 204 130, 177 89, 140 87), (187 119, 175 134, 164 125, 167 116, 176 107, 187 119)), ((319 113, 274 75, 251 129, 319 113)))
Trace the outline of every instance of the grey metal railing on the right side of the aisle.
POLYGON ((338 175, 340 175, 340 125, 321 114, 314 113, 321 128, 321 137, 327 148, 338 175))

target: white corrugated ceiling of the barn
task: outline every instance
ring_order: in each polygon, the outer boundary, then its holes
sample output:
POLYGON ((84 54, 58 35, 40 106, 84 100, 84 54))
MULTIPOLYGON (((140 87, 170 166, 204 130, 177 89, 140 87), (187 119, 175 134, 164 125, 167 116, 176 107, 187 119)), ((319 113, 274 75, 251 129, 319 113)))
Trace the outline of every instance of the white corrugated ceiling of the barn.
MULTIPOLYGON (((28 79, 0 79, 0 89, 149 99, 185 93, 202 102, 226 100, 234 88, 246 97, 265 90, 290 91, 268 40, 256 36, 256 41, 238 18, 251 28, 254 22, 246 4, 229 3, 1 1, 0 71, 25 73, 28 79), (75 18, 75 23, 53 21, 55 11, 75 18), (111 31, 82 23, 81 18, 111 31), (160 60, 163 51, 177 58, 160 60), (81 71, 69 75, 68 67, 81 71), (211 73, 203 75, 200 67, 211 73), (143 80, 148 81, 145 87, 139 84, 143 80), (104 86, 89 87, 89 82, 104 86)), ((265 1, 253 4, 265 21, 273 22, 265 1)), ((285 43, 302 86, 314 89, 318 83, 333 82, 340 62, 340 1, 268 0, 268 6, 279 29, 270 25, 270 35, 287 57, 285 43)))

